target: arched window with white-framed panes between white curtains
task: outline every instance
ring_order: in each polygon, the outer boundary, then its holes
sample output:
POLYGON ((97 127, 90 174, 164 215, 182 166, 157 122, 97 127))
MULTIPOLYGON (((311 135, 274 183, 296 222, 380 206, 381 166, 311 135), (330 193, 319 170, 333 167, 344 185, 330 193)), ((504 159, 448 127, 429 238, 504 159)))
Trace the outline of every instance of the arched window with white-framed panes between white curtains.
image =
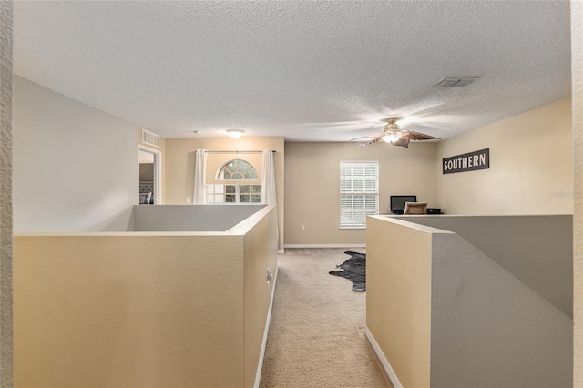
MULTIPOLYGON (((258 180, 257 170, 246 160, 233 159, 219 168, 216 180, 258 180)), ((261 185, 250 183, 207 185, 207 203, 261 203, 261 185)))

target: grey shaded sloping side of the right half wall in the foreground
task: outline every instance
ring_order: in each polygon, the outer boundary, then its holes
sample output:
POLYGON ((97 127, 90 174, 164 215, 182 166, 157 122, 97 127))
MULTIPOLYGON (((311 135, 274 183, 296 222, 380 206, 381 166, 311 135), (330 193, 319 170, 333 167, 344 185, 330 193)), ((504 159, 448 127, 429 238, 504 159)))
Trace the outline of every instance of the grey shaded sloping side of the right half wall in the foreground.
POLYGON ((434 233, 431 271, 431 388, 572 386, 567 315, 458 234, 434 233))

